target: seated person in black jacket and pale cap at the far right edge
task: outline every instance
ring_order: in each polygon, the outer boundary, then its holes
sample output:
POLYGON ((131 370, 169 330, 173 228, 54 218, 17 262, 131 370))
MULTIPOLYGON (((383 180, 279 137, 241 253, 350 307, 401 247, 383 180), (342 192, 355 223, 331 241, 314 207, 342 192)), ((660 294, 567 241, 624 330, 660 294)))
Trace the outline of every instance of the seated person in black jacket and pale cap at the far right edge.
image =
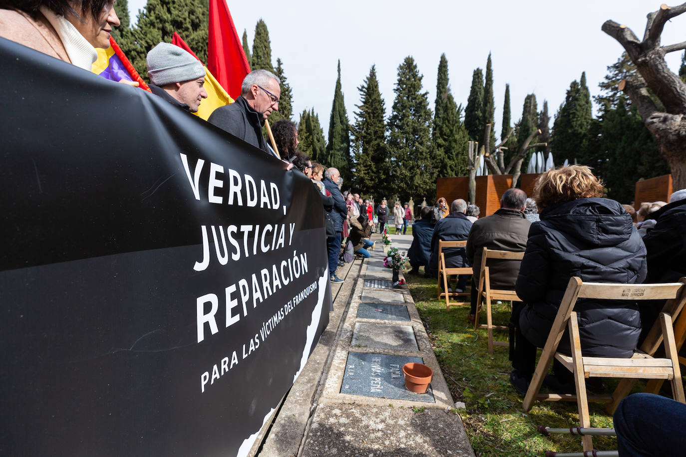
MULTIPOLYGON (((670 203, 650 215, 655 227, 643 237, 648 253, 646 282, 678 282, 686 276, 686 189, 670 197, 670 203)), ((662 309, 655 301, 639 302, 643 341, 662 309)))

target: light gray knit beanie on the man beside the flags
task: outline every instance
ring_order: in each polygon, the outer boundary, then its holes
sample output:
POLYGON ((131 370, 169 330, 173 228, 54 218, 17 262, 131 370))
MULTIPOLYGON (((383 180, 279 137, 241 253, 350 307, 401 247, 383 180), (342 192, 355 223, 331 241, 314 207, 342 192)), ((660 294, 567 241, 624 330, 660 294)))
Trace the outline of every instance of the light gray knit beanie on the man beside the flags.
POLYGON ((205 69, 200 60, 171 43, 160 43, 147 53, 147 77, 156 86, 204 75, 205 69))

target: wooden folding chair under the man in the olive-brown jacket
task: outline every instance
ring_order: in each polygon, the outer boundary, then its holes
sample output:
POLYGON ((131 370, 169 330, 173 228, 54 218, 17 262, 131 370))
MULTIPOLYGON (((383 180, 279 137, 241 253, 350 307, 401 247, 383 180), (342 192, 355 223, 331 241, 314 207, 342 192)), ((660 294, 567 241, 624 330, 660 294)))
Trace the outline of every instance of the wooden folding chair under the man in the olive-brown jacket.
POLYGON ((506 301, 521 301, 517 297, 517 292, 514 289, 492 289, 490 288, 490 273, 488 271, 488 259, 500 260, 517 260, 521 261, 524 257, 523 252, 512 251, 497 251, 495 249, 488 249, 484 247, 481 256, 481 269, 479 274, 479 292, 476 301, 476 315, 474 319, 474 331, 478 328, 488 329, 488 354, 493 354, 493 346, 508 346, 507 341, 493 341, 493 329, 509 330, 506 325, 493 325, 493 316, 491 314, 492 300, 506 300, 506 301), (481 308, 486 302, 486 323, 482 324, 479 320, 481 308))

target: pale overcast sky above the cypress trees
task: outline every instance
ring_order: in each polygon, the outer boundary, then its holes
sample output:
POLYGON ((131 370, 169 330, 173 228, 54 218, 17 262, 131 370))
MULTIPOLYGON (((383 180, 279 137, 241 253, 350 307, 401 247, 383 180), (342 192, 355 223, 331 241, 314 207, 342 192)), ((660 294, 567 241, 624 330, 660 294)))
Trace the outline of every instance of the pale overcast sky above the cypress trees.
MULTIPOLYGON (((129 0, 132 21, 146 0, 129 0)), ((505 84, 510 84, 512 123, 521 117, 524 97, 536 94, 539 110, 547 99, 554 119, 573 79, 586 71, 591 95, 622 53, 622 47, 600 27, 612 19, 643 36, 646 14, 659 1, 244 1, 228 0, 239 35, 248 32, 252 49, 255 24, 269 29, 272 61, 283 61, 296 113, 313 108, 327 136, 336 62, 341 61, 342 88, 351 122, 359 90, 372 64, 377 66, 381 97, 390 114, 397 69, 412 55, 424 76, 434 110, 440 54, 448 59, 450 87, 457 103, 466 106, 473 70, 484 73, 488 52, 493 59, 495 130, 501 128, 505 84)), ((665 25, 662 44, 686 40, 686 14, 665 25)), ((681 52, 667 55, 678 71, 681 52)), ((552 127, 552 120, 550 123, 552 127)))

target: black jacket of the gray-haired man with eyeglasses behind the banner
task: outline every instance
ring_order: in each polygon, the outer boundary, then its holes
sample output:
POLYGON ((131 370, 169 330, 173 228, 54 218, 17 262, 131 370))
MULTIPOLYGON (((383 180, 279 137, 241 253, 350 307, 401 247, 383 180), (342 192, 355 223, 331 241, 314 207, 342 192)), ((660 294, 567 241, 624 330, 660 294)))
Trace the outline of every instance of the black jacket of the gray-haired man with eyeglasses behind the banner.
POLYGON ((242 96, 214 110, 207 122, 267 152, 267 142, 262 136, 262 113, 253 110, 242 96))

